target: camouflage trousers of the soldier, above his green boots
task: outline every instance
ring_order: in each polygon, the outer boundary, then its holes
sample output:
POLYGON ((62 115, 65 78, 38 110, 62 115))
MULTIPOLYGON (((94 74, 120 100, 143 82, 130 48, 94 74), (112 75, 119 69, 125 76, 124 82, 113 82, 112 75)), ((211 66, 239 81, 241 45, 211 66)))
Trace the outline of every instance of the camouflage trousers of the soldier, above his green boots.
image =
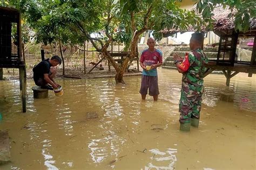
POLYGON ((180 123, 190 123, 191 118, 200 118, 202 95, 203 93, 187 95, 184 90, 181 89, 179 101, 180 123))

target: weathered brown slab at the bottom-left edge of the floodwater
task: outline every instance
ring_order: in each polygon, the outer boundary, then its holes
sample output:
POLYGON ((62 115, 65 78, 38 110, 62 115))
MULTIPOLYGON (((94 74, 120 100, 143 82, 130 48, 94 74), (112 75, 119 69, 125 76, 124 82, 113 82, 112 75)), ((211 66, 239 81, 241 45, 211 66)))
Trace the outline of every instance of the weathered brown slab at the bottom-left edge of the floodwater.
POLYGON ((0 163, 10 161, 10 159, 9 134, 7 131, 0 131, 0 163))

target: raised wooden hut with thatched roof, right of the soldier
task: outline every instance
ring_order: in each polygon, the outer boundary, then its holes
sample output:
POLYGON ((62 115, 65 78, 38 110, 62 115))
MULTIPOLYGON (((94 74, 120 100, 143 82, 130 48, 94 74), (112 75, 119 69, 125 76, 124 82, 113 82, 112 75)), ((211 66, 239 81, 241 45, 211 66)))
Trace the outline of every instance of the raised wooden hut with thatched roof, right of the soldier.
MULTIPOLYGON (((226 76, 226 85, 229 86, 230 79, 239 72, 248 73, 248 76, 256 74, 256 18, 250 19, 250 28, 247 32, 238 32, 234 30, 234 18, 227 18, 229 10, 224 10, 221 6, 215 8, 215 23, 213 32, 220 37, 218 43, 217 59, 210 60, 206 66, 208 69, 205 76, 213 72, 213 70, 222 70, 226 76), (237 45, 239 38, 254 38, 251 61, 239 61, 237 59, 237 45)), ((203 32, 210 30, 201 29, 203 32)), ((164 37, 171 36, 177 32, 196 31, 193 27, 187 30, 163 30, 164 37)))

